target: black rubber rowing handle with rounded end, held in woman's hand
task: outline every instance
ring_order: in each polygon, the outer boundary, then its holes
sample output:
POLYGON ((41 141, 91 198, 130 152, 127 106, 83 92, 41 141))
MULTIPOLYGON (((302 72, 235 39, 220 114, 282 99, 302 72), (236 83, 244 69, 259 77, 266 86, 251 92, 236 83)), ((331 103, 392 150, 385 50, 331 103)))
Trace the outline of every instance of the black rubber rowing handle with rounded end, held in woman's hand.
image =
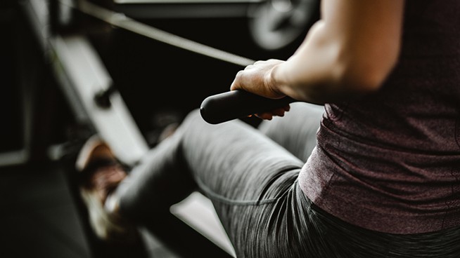
POLYGON ((207 123, 217 124, 271 111, 295 101, 291 97, 273 100, 244 90, 231 90, 205 98, 200 114, 207 123))

